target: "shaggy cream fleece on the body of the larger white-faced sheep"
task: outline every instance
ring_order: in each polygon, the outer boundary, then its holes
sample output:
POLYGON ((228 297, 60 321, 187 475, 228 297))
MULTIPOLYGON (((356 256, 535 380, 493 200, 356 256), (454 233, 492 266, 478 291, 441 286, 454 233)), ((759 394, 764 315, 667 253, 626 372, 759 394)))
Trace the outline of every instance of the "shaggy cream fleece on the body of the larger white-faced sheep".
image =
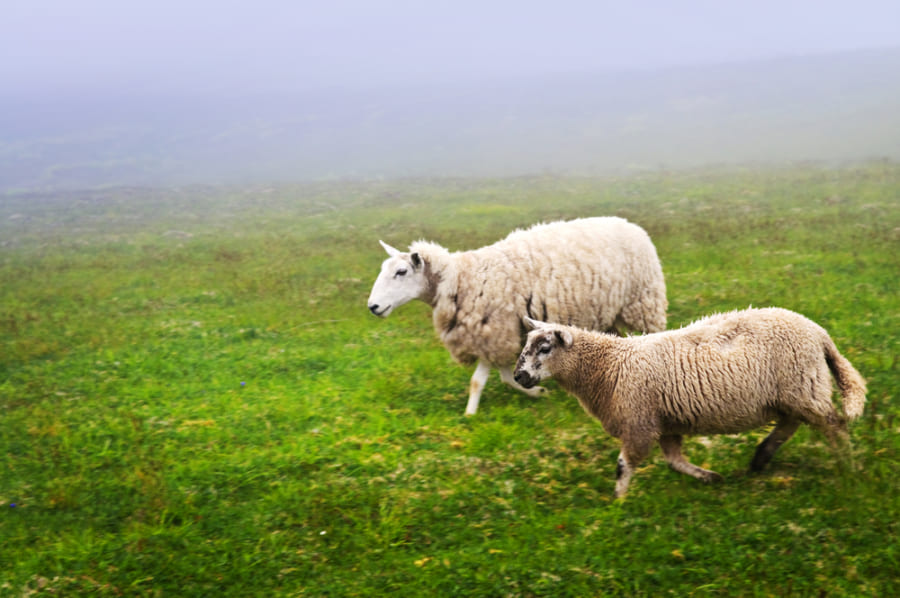
POLYGON ((621 218, 538 225, 454 259, 453 317, 439 333, 463 363, 513 363, 525 316, 608 330, 646 287, 665 295, 650 238, 621 218))

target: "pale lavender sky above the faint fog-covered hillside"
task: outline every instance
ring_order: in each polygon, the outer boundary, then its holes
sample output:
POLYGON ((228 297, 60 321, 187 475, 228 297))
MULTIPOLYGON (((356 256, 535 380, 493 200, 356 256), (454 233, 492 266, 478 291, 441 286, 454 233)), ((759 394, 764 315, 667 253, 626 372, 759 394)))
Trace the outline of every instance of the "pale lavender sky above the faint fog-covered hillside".
POLYGON ((897 0, 2 0, 0 93, 477 81, 900 45, 897 0))

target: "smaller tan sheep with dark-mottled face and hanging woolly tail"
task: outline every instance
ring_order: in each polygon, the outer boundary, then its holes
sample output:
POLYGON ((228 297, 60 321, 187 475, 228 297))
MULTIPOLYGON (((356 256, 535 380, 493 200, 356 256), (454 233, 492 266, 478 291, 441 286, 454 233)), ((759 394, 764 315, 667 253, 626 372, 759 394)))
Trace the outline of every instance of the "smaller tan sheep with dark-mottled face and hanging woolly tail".
POLYGON ((720 480, 685 459, 684 434, 732 434, 775 420, 756 448, 752 471, 765 467, 801 423, 849 451, 847 421, 862 414, 866 401, 865 380, 828 333, 786 309, 717 314, 679 330, 627 338, 526 323, 534 329, 516 363, 516 381, 530 388, 552 376, 621 439, 617 497, 625 495, 655 441, 675 471, 720 480), (843 416, 832 403, 829 369, 843 416))

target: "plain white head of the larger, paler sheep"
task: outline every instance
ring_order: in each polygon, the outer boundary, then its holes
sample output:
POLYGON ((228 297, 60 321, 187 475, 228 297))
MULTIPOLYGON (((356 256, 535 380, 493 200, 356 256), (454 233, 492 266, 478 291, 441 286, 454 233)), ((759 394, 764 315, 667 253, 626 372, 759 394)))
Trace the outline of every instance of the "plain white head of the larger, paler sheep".
POLYGON ((419 299, 428 287, 419 254, 403 253, 379 241, 390 256, 381 264, 381 273, 369 293, 369 311, 385 318, 404 303, 419 299))

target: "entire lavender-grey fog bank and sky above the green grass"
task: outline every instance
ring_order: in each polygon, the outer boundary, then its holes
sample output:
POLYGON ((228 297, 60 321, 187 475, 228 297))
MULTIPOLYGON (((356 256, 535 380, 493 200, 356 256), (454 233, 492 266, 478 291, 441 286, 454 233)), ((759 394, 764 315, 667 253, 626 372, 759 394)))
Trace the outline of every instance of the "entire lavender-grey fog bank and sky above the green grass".
POLYGON ((900 3, 7 3, 0 190, 900 157, 900 3))

